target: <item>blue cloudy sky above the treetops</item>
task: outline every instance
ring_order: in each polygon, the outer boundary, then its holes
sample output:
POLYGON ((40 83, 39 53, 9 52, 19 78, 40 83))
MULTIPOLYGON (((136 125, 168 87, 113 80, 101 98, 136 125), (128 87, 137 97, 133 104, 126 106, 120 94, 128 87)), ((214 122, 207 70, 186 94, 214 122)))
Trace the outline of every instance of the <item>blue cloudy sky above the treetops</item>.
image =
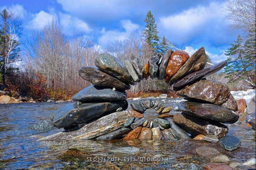
POLYGON ((160 37, 190 53, 204 46, 215 63, 227 59, 224 52, 239 33, 228 27, 222 0, 0 0, 0 10, 4 8, 24 18, 24 37, 57 19, 67 34, 94 35, 103 48, 145 27, 151 10, 160 37))

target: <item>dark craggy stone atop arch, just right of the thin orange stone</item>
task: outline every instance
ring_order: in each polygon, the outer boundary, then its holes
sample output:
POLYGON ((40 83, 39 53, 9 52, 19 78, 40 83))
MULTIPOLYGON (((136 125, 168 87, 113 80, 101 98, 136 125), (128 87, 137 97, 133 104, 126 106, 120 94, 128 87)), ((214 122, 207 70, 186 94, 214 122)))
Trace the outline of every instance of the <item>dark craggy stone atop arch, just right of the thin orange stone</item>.
POLYGON ((154 53, 150 56, 149 59, 149 75, 151 79, 156 78, 156 76, 159 74, 159 60, 161 58, 161 55, 158 53, 154 53))

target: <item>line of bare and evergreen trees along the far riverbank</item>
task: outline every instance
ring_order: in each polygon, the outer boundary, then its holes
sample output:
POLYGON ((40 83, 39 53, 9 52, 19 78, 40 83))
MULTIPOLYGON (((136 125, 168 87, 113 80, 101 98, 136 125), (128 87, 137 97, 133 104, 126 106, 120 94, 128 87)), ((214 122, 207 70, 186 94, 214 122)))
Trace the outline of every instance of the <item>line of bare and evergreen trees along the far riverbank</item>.
MULTIPOLYGON (((245 81, 255 88, 255 2, 247 1, 247 4, 243 1, 242 5, 249 6, 249 2, 254 3, 254 13, 251 11, 254 20, 249 18, 252 24, 242 25, 241 23, 248 21, 244 19, 239 23, 233 19, 237 26, 232 27, 248 27, 243 29, 246 36, 238 35, 239 39, 227 49, 228 66, 225 73, 212 75, 211 79, 220 80, 226 76, 229 83, 245 81)), ((240 1, 229 0, 226 3, 228 5, 232 2, 240 1)), ((227 10, 232 13, 238 9, 227 10)), ((144 19, 145 27, 133 31, 128 39, 112 42, 104 49, 100 48, 101 44, 95 37, 66 35, 61 24, 52 20, 42 29, 32 30, 23 44, 24 50, 21 51, 19 40, 22 20, 6 9, 2 10, 0 15, 0 90, 8 90, 14 97, 18 97, 18 92, 22 96, 42 101, 47 98, 68 99, 91 85, 79 77, 78 70, 81 66, 94 65, 95 58, 100 53, 110 53, 121 61, 129 60, 135 55, 144 64, 154 52, 164 55, 168 48, 176 48, 165 36, 158 36, 157 24, 150 10, 144 19)), ((227 17, 232 20, 231 16, 233 15, 227 17)), ((209 57, 208 61, 211 62, 209 57)), ((149 91, 168 93, 172 88, 163 80, 148 79, 132 86, 128 93, 149 91)))

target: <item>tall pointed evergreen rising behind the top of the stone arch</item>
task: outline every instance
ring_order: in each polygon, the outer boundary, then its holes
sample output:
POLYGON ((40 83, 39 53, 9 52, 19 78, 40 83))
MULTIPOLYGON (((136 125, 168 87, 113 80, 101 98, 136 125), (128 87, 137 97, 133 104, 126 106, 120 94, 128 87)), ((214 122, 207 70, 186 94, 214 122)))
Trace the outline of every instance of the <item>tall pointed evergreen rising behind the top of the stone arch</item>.
POLYGON ((157 25, 155 23, 155 18, 151 14, 151 11, 149 10, 147 12, 146 18, 144 19, 144 22, 146 23, 146 28, 144 29, 143 36, 146 39, 146 43, 154 50, 157 51, 159 48, 159 39, 158 31, 157 31, 157 25))

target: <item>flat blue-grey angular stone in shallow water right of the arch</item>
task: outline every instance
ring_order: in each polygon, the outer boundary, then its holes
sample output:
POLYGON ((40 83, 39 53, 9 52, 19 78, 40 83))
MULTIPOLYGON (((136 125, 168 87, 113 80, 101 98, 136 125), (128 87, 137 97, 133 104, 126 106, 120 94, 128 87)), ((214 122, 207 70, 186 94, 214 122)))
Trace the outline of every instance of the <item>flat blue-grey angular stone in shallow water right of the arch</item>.
POLYGON ((227 135, 220 139, 220 146, 228 151, 234 151, 241 146, 241 141, 235 136, 227 135))

